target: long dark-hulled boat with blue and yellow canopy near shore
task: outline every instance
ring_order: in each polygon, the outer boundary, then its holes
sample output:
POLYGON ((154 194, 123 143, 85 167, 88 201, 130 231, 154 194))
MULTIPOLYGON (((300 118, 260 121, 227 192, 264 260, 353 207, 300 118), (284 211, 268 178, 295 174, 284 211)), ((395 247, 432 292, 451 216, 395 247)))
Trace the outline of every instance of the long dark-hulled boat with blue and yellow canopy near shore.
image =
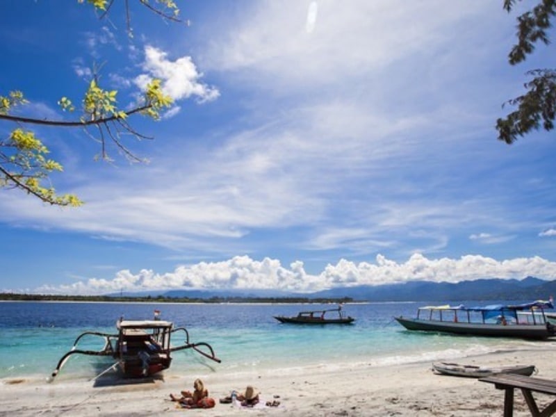
POLYGON ((416 318, 395 317, 408 330, 444 332, 469 336, 546 339, 556 336, 556 327, 548 322, 545 309, 553 302, 535 301, 517 305, 419 307, 416 318))

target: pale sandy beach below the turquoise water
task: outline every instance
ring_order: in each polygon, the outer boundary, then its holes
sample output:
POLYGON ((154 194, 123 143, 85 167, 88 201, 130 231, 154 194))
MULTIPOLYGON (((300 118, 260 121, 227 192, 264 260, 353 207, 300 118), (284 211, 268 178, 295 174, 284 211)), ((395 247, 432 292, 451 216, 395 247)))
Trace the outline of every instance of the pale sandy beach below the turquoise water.
MULTIPOLYGON (((537 377, 556 379, 552 348, 500 352, 458 360, 482 366, 533 364, 537 377)), ((451 359, 450 361, 454 361, 451 359)), ((553 400, 535 395, 541 405, 553 400)), ((473 378, 436 375, 430 362, 398 366, 300 368, 281 373, 165 375, 141 383, 64 381, 54 383, 5 379, 0 389, 1 416, 502 416, 503 391, 473 378), (201 378, 213 409, 178 409, 170 393, 191 389, 201 378), (252 384, 261 392, 261 406, 242 409, 218 400, 231 390, 252 384)), ((530 416, 521 393, 515 395, 514 416, 530 416)))

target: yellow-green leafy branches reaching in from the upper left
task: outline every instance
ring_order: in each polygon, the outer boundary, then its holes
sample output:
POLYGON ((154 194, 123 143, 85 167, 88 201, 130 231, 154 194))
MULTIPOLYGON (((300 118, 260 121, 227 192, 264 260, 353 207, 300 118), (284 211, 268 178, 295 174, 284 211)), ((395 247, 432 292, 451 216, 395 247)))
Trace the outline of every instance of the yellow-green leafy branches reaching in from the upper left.
MULTIPOLYGON (((85 0, 77 1, 85 3, 85 0)), ((102 19, 116 1, 119 0, 86 0, 86 3, 91 5, 102 19)), ((179 22, 179 9, 173 0, 136 1, 163 19, 179 22)), ((125 8, 127 31, 131 36, 129 2, 130 0, 126 0, 125 8)), ((74 105, 68 97, 58 100, 58 106, 62 111, 72 115, 78 113, 74 120, 37 119, 24 117, 20 115, 20 111, 14 112, 17 108, 24 110, 27 102, 21 91, 13 90, 7 94, 0 92, 0 122, 15 124, 15 128, 6 138, 0 137, 0 188, 22 190, 48 204, 80 206, 83 202, 76 195, 56 194, 55 188, 51 186, 50 174, 63 171, 63 166, 47 158, 49 149, 33 131, 28 130, 28 126, 85 129, 91 138, 100 143, 101 151, 97 158, 110 160, 107 148, 108 145, 114 145, 127 158, 140 161, 122 141, 123 135, 130 134, 138 140, 147 138, 133 129, 130 124, 131 116, 144 115, 158 120, 161 112, 172 105, 172 98, 164 94, 161 81, 154 79, 147 85, 136 104, 131 109, 123 110, 117 101, 117 91, 102 88, 98 74, 93 74, 79 104, 74 105), (45 182, 49 183, 49 186, 44 186, 45 182)))

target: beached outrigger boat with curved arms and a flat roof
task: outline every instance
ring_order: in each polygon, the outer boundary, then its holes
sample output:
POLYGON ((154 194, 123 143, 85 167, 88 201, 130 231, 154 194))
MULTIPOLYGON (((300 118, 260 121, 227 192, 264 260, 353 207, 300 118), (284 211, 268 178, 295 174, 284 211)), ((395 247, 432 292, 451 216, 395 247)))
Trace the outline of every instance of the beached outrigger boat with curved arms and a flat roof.
MULTIPOLYGON (((160 320, 159 314, 159 311, 155 311, 154 320, 123 320, 123 318, 120 318, 116 323, 117 334, 82 333, 76 338, 72 350, 60 359, 50 380, 58 375, 67 359, 70 359, 73 354, 113 357, 116 362, 100 375, 119 366, 124 377, 149 377, 160 373, 170 368, 170 363, 172 363, 171 353, 184 349, 193 349, 204 357, 220 363, 220 359, 215 356, 211 345, 204 342, 190 343, 189 333, 185 327, 174 329, 173 323, 160 320), (185 341, 183 345, 172 346, 170 337, 177 332, 185 334, 185 341), (77 344, 85 336, 104 337, 105 343, 102 350, 78 349, 77 344)), ((97 375, 97 377, 100 375, 97 375)))

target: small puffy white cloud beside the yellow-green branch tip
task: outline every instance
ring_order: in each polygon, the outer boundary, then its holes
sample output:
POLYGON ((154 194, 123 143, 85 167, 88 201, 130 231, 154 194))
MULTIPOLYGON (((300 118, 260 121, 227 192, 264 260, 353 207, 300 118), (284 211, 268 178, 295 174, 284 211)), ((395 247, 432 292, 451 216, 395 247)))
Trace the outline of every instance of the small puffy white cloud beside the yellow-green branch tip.
POLYGON ((163 91, 174 100, 197 97, 200 102, 217 99, 220 92, 217 88, 199 81, 202 75, 190 56, 183 56, 175 61, 167 59, 167 54, 160 49, 147 45, 145 62, 142 69, 146 72, 134 80, 144 90, 152 79, 161 79, 163 91))

